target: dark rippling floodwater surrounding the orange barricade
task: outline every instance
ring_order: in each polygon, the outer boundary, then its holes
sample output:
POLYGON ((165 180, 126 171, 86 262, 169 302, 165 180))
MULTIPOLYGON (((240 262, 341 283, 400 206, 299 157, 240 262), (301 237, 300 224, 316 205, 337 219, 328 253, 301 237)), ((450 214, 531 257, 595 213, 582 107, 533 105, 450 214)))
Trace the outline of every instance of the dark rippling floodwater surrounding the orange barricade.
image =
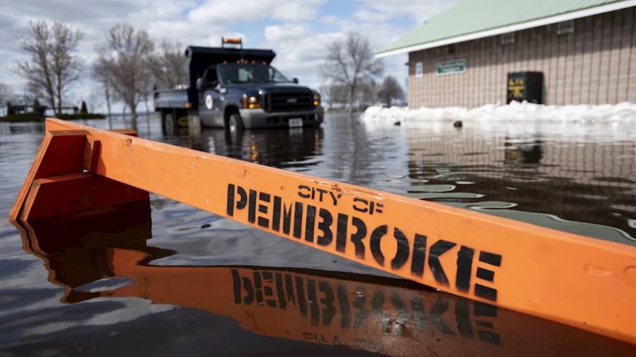
MULTIPOLYGON (((121 119, 85 124, 130 126, 121 119)), ((158 120, 142 117, 138 133, 636 245, 636 129, 628 126, 373 126, 332 115, 317 130, 163 138, 158 120)), ((8 215, 43 135, 43 125, 0 123, 0 217, 8 215)), ((151 195, 149 207, 133 203, 98 217, 40 222, 29 234, 0 220, 0 356, 466 351, 636 353, 599 335, 394 280, 160 196, 151 195)))

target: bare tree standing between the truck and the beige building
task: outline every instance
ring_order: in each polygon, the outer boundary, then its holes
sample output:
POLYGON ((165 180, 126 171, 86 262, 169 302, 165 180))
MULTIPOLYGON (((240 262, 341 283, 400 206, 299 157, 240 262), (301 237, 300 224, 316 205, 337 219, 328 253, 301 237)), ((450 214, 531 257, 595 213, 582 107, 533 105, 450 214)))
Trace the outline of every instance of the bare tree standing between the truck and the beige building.
POLYGON ((328 44, 327 56, 320 67, 324 79, 349 88, 349 111, 353 111, 359 84, 384 72, 384 65, 373 58, 369 39, 357 32, 349 32, 345 39, 328 44))

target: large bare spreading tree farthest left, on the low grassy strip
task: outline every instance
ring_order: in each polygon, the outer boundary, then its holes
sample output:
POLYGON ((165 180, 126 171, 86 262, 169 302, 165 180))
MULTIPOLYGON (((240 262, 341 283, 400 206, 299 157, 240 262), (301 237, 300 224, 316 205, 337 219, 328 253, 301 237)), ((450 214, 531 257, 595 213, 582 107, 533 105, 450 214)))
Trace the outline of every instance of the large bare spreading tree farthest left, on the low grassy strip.
POLYGON ((31 58, 18 62, 13 72, 27 81, 30 94, 46 98, 57 114, 62 111, 62 97, 81 74, 76 51, 83 37, 80 30, 61 22, 49 26, 44 20, 29 22, 26 36, 18 37, 20 48, 31 58))

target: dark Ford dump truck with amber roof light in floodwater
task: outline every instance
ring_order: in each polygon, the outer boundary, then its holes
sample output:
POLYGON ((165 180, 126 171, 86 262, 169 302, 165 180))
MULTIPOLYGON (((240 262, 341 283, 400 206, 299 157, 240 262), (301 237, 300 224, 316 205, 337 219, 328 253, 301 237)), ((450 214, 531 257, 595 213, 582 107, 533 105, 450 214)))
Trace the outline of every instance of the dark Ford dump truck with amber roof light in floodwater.
POLYGON ((321 125, 319 93, 272 67, 272 50, 244 49, 240 39, 221 39, 220 48, 188 46, 185 55, 188 83, 176 89, 155 87, 155 111, 161 113, 164 135, 173 135, 193 119, 233 132, 321 125))

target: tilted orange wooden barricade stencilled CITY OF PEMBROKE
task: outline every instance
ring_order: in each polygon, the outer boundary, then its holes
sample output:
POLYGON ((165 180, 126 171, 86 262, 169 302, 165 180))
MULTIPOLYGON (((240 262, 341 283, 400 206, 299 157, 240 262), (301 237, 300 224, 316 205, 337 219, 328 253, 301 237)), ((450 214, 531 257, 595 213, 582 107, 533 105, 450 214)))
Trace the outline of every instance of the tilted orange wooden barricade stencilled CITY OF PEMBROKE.
POLYGON ((636 248, 46 119, 10 220, 153 192, 441 291, 636 343, 636 248), (61 194, 60 192, 64 192, 61 194))

